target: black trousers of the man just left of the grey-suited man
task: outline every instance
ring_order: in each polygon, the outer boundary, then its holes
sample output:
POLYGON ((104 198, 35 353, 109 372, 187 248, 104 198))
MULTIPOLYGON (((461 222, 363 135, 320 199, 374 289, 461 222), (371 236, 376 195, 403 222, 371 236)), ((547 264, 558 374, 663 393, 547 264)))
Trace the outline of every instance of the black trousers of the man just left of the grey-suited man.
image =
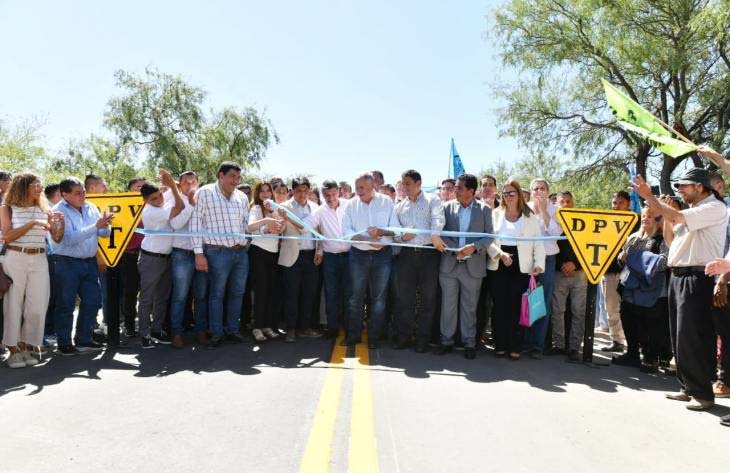
POLYGON ((409 342, 414 329, 418 343, 425 344, 430 340, 440 262, 441 254, 434 250, 401 249, 395 263, 398 274, 395 325, 399 341, 409 342), (420 298, 418 304, 416 297, 420 298))

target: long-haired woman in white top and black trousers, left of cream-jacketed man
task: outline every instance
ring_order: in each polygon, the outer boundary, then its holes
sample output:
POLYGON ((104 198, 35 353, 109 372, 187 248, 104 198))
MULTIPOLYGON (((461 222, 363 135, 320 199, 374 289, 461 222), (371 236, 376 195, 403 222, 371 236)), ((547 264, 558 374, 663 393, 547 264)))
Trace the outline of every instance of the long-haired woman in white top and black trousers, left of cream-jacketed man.
MULTIPOLYGON (((281 233, 283 226, 277 213, 266 202, 274 198, 271 183, 259 181, 253 188, 251 212, 248 230, 260 235, 281 233)), ((251 259, 251 288, 254 294, 254 329, 253 337, 257 342, 267 338, 276 338, 276 320, 273 313, 274 279, 276 262, 279 256, 279 240, 277 238, 254 238, 248 252, 251 259)))

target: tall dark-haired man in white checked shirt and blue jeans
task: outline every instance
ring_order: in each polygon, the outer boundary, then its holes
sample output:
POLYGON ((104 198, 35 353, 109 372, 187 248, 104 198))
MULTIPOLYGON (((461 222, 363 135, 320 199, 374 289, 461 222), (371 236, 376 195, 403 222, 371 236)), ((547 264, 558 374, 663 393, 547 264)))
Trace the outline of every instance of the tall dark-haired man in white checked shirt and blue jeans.
POLYGON ((195 195, 197 204, 190 219, 191 232, 207 234, 193 237, 193 251, 195 269, 208 273, 208 323, 212 337, 208 348, 211 349, 220 347, 226 340, 243 341, 239 328, 248 276, 248 242, 242 234, 248 227, 248 198, 236 189, 240 182, 241 166, 230 161, 221 163, 218 181, 201 187, 195 195))

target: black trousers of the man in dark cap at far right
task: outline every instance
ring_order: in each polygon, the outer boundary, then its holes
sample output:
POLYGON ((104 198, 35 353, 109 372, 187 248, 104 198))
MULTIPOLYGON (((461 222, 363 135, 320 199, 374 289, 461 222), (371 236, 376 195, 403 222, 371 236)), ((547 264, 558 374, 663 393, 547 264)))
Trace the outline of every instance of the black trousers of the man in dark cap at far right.
POLYGON ((672 330, 677 379, 692 397, 712 401, 712 379, 716 367, 717 340, 712 321, 711 277, 700 272, 669 278, 669 317, 676 319, 672 330))

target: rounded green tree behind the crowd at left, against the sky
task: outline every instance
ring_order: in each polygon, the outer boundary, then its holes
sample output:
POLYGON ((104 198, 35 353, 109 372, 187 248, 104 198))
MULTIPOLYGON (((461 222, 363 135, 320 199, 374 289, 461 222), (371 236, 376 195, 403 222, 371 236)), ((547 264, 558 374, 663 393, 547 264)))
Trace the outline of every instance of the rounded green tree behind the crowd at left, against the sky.
POLYGON ((179 76, 148 68, 142 76, 120 70, 115 78, 122 94, 109 101, 104 124, 121 143, 146 154, 150 171, 194 169, 212 180, 220 161, 255 168, 278 142, 271 122, 254 108, 229 107, 206 117, 205 91, 179 76))

